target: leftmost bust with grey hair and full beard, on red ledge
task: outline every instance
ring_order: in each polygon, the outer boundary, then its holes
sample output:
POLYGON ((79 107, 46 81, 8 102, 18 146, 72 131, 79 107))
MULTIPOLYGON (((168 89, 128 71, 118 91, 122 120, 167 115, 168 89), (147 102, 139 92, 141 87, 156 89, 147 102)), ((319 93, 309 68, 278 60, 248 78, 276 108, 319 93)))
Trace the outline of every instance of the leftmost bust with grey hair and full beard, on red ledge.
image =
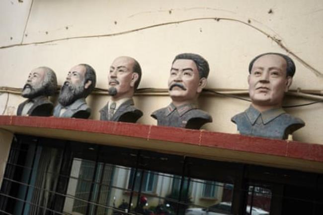
POLYGON ((51 116, 53 103, 48 96, 54 95, 57 89, 55 72, 48 67, 39 67, 29 73, 21 95, 28 98, 17 109, 18 116, 51 116))

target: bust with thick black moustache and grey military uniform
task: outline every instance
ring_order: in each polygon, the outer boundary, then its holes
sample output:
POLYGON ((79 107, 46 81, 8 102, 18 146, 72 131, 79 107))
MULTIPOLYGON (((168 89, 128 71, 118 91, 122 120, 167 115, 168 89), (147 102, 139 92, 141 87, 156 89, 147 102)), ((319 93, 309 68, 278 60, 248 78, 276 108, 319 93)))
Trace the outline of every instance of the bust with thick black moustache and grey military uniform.
POLYGON ((208 74, 209 64, 203 57, 192 53, 175 57, 168 79, 172 102, 152 114, 159 126, 200 129, 212 122, 212 117, 194 104, 206 86, 208 74))

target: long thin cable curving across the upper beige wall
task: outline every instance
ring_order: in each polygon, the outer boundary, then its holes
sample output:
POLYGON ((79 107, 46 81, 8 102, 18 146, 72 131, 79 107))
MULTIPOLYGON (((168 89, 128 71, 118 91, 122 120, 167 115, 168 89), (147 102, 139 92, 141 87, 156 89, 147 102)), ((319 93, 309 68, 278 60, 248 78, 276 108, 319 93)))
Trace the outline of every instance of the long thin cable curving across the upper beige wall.
POLYGON ((178 21, 171 21, 171 22, 163 22, 159 24, 154 24, 154 25, 148 25, 144 26, 141 28, 136 28, 136 29, 131 29, 131 30, 126 30, 126 31, 121 31, 121 32, 116 32, 116 33, 110 33, 110 34, 99 34, 99 35, 87 35, 87 36, 75 36, 75 37, 66 37, 66 38, 59 38, 59 39, 53 39, 53 40, 45 40, 45 41, 40 41, 40 42, 31 42, 31 43, 19 43, 19 44, 12 44, 8 46, 1 46, 0 49, 7 49, 7 48, 12 48, 16 46, 27 46, 27 45, 40 45, 40 44, 47 44, 47 43, 52 43, 52 42, 58 42, 58 41, 64 41, 64 40, 72 40, 72 39, 84 39, 84 38, 95 38, 95 37, 111 37, 111 36, 118 36, 118 35, 123 35, 123 34, 129 34, 145 29, 150 29, 150 28, 156 28, 164 25, 173 25, 173 24, 179 24, 179 23, 185 23, 185 22, 192 22, 192 21, 198 21, 198 20, 215 20, 215 21, 220 21, 220 20, 225 20, 225 21, 233 21, 233 22, 238 22, 244 25, 247 25, 256 31, 262 33, 265 35, 267 38, 271 39, 274 41, 280 48, 285 50, 288 54, 293 56, 298 62, 300 62, 303 66, 308 68, 311 72, 313 72, 316 76, 323 78, 323 73, 315 69, 313 66, 308 64, 306 61, 304 61, 301 57, 296 55, 294 52, 289 50, 282 42, 281 39, 276 38, 275 36, 270 35, 269 33, 266 33, 264 30, 261 30, 258 27, 255 27, 251 25, 250 21, 248 22, 235 19, 235 18, 225 18, 225 17, 199 17, 199 18, 191 18, 191 19, 184 19, 184 20, 178 20, 178 21))

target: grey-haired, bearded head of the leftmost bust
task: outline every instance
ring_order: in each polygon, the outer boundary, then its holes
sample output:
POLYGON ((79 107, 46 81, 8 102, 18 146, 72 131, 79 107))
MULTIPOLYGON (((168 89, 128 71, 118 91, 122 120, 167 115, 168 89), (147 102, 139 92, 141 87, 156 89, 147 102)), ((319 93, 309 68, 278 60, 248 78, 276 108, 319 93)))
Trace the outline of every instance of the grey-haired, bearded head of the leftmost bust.
POLYGON ((56 89, 55 72, 48 67, 38 67, 29 73, 21 95, 30 99, 40 95, 51 96, 55 94, 56 89))

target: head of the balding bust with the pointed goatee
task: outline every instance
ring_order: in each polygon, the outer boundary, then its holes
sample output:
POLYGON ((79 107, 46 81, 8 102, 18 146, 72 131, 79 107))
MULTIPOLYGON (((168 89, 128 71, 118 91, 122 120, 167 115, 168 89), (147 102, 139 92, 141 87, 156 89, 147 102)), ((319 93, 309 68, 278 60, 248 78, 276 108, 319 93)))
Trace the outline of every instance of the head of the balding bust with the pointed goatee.
POLYGON ((141 79, 141 67, 131 57, 116 58, 108 73, 109 94, 113 100, 132 97, 141 79))

